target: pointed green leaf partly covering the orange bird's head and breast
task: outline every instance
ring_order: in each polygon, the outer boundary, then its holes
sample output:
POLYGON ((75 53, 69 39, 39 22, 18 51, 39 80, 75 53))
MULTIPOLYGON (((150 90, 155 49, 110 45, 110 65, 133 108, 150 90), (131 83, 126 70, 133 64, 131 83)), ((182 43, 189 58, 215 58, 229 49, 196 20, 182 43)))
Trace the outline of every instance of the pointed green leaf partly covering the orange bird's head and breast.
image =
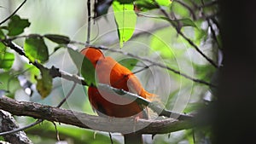
POLYGON ((77 66, 79 72, 82 74, 84 81, 88 85, 96 85, 95 68, 84 55, 73 49, 67 49, 73 63, 77 66))

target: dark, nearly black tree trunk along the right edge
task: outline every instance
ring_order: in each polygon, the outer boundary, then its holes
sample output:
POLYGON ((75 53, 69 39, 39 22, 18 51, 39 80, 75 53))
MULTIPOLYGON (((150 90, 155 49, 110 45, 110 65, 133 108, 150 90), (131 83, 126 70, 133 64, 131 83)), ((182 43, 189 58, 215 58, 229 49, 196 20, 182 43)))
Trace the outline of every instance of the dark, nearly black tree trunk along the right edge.
POLYGON ((253 143, 256 131, 255 1, 220 0, 224 67, 220 72, 213 143, 253 143))

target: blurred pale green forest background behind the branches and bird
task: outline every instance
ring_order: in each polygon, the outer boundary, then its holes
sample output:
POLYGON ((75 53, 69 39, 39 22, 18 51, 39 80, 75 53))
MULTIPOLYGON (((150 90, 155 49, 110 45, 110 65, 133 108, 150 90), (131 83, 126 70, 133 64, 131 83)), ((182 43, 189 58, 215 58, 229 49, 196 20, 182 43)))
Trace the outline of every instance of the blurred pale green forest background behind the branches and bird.
MULTIPOLYGON (((1 0, 0 3, 0 20, 5 19, 11 14, 23 1, 21 0, 1 0)), ((194 8, 193 3, 183 0, 183 3, 194 8)), ((212 2, 210 0, 205 1, 212 2)), ((195 1, 201 5, 201 1, 195 1)), ((171 9, 166 8, 171 14, 175 14, 177 19, 189 19, 195 26, 183 26, 181 31, 185 33, 199 48, 213 60, 218 57, 217 42, 212 38, 209 23, 207 19, 200 15, 201 9, 195 9, 196 18, 182 4, 173 2, 171 9)), ((205 14, 211 15, 218 11, 216 5, 202 9, 205 14)), ((31 26, 26 28, 22 35, 37 34, 61 34, 70 37, 74 41, 86 41, 87 34, 87 6, 86 1, 76 0, 55 0, 27 1, 26 4, 18 11, 21 18, 28 19, 31 26)), ((147 15, 160 15, 160 11, 155 9, 148 11, 147 15)), ((213 31, 217 32, 218 26, 211 22, 213 31)), ((119 38, 113 20, 112 9, 109 14, 92 21, 91 42, 102 44, 112 49, 119 49, 119 38)), ((24 38, 15 40, 20 46, 24 43, 24 38)), ((55 43, 46 41, 49 54, 54 52, 55 43)), ((83 45, 76 45, 74 49, 82 49, 83 45)), ((212 81, 215 68, 207 63, 191 45, 177 35, 175 28, 170 26, 166 20, 148 18, 145 16, 137 17, 136 31, 130 41, 124 44, 123 51, 134 55, 146 57, 150 60, 157 61, 166 66, 170 66, 180 72, 189 75, 192 78, 203 79, 207 82, 212 81)), ((112 52, 104 52, 116 60, 126 60, 130 57, 112 52)), ((142 66, 148 65, 145 61, 138 61, 133 67, 132 72, 137 72, 142 66)), ((61 70, 77 73, 73 61, 67 54, 67 49, 59 49, 49 57, 45 66, 56 66, 61 70)), ((38 70, 27 64, 24 57, 15 54, 15 63, 9 71, 0 70, 0 78, 3 84, 1 89, 9 89, 18 101, 34 101, 45 105, 56 106, 61 99, 67 95, 72 87, 72 82, 61 78, 54 78, 53 90, 48 97, 41 99, 35 89, 35 75, 38 76, 38 70), (29 71, 26 71, 30 68, 29 71), (26 83, 26 80, 32 82, 32 95, 29 89, 22 89, 20 85, 26 83), (28 90, 28 91, 26 91, 28 90)), ((171 71, 167 71, 158 66, 151 66, 143 72, 138 72, 137 77, 142 81, 143 86, 150 92, 160 95, 160 101, 166 106, 166 109, 175 112, 194 112, 200 107, 207 105, 212 101, 212 91, 208 86, 196 84, 187 78, 180 77, 171 71)), ((86 94, 86 87, 77 85, 73 95, 67 100, 62 107, 74 111, 95 114, 91 107, 86 94)), ((154 113, 152 114, 154 118, 154 113)), ((35 119, 26 117, 15 117, 20 126, 30 124, 35 119)), ((54 124, 44 121, 31 129, 26 130, 26 134, 34 143, 110 143, 108 133, 84 130, 66 124, 56 124, 61 141, 57 141, 54 124)), ((114 143, 122 143, 122 136, 112 134, 114 143)), ((204 130, 181 130, 166 135, 155 135, 152 140, 151 135, 145 135, 145 143, 193 143, 193 136, 196 141, 209 141, 209 134, 204 130)))

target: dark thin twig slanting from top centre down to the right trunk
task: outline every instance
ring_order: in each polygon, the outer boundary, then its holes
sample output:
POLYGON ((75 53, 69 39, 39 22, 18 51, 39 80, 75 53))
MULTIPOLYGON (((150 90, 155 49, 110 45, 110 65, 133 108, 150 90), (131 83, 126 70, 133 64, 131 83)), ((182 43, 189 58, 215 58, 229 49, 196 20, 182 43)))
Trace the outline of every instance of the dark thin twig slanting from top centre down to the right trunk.
POLYGON ((182 36, 192 47, 194 47, 195 50, 196 50, 199 54, 201 54, 210 64, 212 64, 212 66, 218 68, 218 65, 217 65, 213 60, 211 60, 210 58, 208 58, 207 55, 205 55, 205 54, 201 51, 201 49, 199 49, 199 48, 197 47, 197 45, 195 45, 195 43, 194 43, 191 39, 189 39, 189 37, 186 37, 186 36, 183 34, 183 32, 181 32, 181 31, 178 29, 178 27, 174 26, 174 24, 171 22, 171 21, 172 21, 172 18, 170 17, 169 14, 167 14, 166 10, 163 9, 163 8, 159 5, 159 3, 157 3, 155 0, 154 0, 154 4, 155 4, 155 6, 156 6, 158 9, 160 9, 160 11, 166 16, 166 18, 168 18, 168 19, 170 20, 170 24, 171 24, 173 27, 175 27, 177 33, 178 33, 180 36, 182 36))

